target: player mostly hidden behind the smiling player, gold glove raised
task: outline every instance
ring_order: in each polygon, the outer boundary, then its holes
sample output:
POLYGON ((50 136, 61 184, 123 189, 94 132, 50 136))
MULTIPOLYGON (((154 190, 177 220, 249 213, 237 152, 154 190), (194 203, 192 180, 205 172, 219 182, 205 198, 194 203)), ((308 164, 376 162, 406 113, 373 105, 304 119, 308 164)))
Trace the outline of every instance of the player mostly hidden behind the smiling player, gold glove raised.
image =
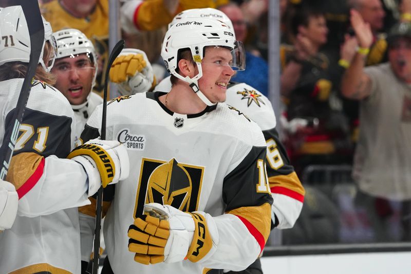
MULTIPOLYGON (((185 10, 179 13, 170 25, 172 26, 181 20, 201 17, 217 19, 225 22, 229 27, 232 26, 230 19, 223 12, 211 8, 185 10)), ((124 51, 132 52, 130 49, 124 51)), ((136 64, 127 64, 130 62, 129 60, 133 59, 137 60, 138 58, 128 56, 127 59, 116 59, 117 68, 111 68, 110 79, 112 82, 118 83, 122 90, 128 90, 128 94, 149 91, 148 88, 145 90, 135 88, 138 85, 133 83, 139 83, 140 79, 146 79, 147 72, 134 69, 134 67, 140 67, 136 64)), ((141 66, 145 67, 146 63, 141 66)), ((169 92, 171 88, 170 77, 168 77, 161 81, 154 90, 169 92)), ((123 93, 123 95, 127 94, 123 93)), ((274 198, 272 205, 273 227, 278 229, 292 228, 301 213, 305 191, 290 164, 284 145, 278 138, 271 102, 254 87, 245 83, 230 83, 226 95, 225 103, 234 106, 254 120, 264 133, 267 142, 267 173, 274 198)), ((262 272, 259 259, 245 271, 262 272)))

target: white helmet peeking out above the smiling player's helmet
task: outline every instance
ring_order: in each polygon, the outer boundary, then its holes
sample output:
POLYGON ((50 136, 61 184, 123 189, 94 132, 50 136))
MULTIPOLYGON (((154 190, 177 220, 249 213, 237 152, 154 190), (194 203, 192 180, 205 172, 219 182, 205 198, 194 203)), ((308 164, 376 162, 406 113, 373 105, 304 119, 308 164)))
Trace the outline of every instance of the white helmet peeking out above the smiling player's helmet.
POLYGON ((231 22, 230 18, 226 15, 226 13, 218 9, 213 9, 213 8, 183 10, 182 12, 174 16, 173 21, 169 24, 169 28, 171 28, 171 26, 180 22, 181 20, 185 20, 189 18, 215 19, 223 23, 226 23, 226 25, 233 32, 234 39, 235 39, 234 27, 233 27, 233 23, 231 22))

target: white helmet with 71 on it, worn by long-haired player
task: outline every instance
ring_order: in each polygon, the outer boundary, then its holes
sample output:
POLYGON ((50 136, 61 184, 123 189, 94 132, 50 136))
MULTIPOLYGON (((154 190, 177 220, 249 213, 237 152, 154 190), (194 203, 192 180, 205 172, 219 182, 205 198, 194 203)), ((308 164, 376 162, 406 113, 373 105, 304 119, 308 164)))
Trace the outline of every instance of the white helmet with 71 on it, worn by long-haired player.
MULTIPOLYGON (((42 19, 44 25, 43 49, 46 41, 49 41, 54 49, 54 56, 49 60, 48 64, 45 64, 42 51, 39 63, 45 70, 50 71, 57 54, 57 46, 52 36, 50 23, 43 16, 42 19)), ((2 38, 4 38, 0 43, 0 65, 15 61, 28 63, 30 60, 30 34, 21 6, 0 8, 0 29, 2 38)))

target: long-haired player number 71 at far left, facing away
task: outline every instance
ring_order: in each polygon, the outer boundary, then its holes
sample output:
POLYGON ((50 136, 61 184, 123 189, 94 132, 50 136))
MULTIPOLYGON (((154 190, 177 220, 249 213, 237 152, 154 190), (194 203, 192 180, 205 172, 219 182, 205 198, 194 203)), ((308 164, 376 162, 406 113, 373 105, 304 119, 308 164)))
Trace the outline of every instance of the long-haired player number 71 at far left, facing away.
MULTIPOLYGON (((20 201, 13 226, 0 233, 0 273, 80 272, 76 207, 89 204, 88 195, 99 189, 102 179, 103 186, 110 182, 105 168, 97 168, 104 164, 91 158, 87 148, 65 159, 73 148, 73 111, 67 99, 50 85, 54 77, 48 71, 57 49, 46 21, 44 29, 43 53, 6 178, 20 201)), ((0 113, 4 114, 0 127, 3 141, 5 132, 13 127, 10 119, 16 111, 30 56, 29 31, 20 6, 0 9, 0 33, 10 38, 0 45, 0 97, 5 98, 0 105, 0 113)), ((128 157, 124 147, 113 141, 99 143, 101 151, 111 157, 111 166, 115 166, 113 182, 126 177, 128 157)), ((92 142, 89 147, 98 149, 92 142)), ((0 148, 0 153, 4 151, 0 148)))

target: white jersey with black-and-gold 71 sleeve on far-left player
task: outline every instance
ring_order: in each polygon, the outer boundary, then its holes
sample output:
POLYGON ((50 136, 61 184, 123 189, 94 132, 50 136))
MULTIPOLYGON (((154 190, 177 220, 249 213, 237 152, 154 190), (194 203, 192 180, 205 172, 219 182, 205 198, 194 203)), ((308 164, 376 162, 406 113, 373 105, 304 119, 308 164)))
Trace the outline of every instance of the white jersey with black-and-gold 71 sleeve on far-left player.
MULTIPOLYGON (((24 79, 0 83, 0 141, 24 79)), ((73 112, 53 87, 34 81, 7 180, 16 187, 18 215, 0 233, 0 273, 79 273, 80 235, 76 207, 89 204, 87 174, 65 159, 73 148, 73 112)), ((5 148, 0 148, 4 153, 5 148)))

